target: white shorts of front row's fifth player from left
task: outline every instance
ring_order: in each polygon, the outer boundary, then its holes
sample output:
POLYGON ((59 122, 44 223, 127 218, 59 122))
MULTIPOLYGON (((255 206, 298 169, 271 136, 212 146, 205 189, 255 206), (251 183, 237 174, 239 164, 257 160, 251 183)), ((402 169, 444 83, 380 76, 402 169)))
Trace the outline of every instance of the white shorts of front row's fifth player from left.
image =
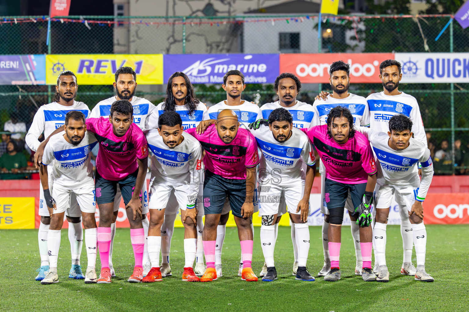
MULTIPOLYGON (((281 216, 285 213, 299 215, 296 212, 298 203, 304 195, 304 180, 289 179, 282 181, 282 185, 272 183, 259 184, 259 216, 281 216), (282 203, 282 198, 284 203, 282 203)), ((310 207, 311 210, 311 207, 310 207)), ((310 211, 308 212, 310 214, 310 211)))

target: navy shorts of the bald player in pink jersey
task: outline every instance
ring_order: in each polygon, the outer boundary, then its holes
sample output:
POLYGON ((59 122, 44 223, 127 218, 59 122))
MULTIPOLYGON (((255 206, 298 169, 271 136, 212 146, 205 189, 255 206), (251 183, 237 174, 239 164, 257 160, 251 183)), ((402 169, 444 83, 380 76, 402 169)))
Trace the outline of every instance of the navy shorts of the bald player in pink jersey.
POLYGON ((227 179, 209 170, 205 170, 205 214, 221 214, 227 197, 233 215, 242 218, 241 207, 246 201, 246 180, 227 179))

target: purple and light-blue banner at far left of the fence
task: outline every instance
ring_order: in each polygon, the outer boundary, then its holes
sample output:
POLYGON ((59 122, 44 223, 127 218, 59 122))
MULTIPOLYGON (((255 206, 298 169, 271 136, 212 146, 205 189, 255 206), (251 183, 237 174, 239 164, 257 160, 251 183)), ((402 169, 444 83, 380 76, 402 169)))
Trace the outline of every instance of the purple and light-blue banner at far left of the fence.
POLYGON ((0 85, 45 85, 45 56, 0 55, 0 85))

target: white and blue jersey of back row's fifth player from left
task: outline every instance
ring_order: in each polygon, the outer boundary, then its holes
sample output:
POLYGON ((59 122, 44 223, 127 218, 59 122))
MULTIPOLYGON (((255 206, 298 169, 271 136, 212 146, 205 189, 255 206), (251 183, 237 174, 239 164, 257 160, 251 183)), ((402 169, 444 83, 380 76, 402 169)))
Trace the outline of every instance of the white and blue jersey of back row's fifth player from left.
POLYGON ((283 107, 280 101, 273 103, 265 103, 261 106, 257 119, 269 119, 270 113, 274 109, 287 109, 293 116, 293 126, 296 128, 310 128, 319 125, 318 114, 313 110, 310 104, 296 101, 296 104, 291 107, 283 107))

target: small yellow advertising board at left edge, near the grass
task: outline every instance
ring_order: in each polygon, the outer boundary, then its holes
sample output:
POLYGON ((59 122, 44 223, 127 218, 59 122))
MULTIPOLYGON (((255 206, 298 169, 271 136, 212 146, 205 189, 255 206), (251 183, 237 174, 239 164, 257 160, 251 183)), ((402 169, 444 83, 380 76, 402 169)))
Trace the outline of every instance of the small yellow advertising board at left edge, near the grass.
POLYGON ((34 197, 0 197, 0 229, 34 229, 34 197))

